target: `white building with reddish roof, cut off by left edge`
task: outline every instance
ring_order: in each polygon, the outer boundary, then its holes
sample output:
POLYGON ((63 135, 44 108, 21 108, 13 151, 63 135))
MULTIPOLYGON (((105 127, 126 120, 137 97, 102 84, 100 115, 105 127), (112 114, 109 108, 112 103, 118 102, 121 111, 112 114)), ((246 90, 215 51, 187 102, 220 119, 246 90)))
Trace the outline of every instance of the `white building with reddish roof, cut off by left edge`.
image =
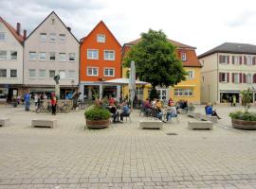
POLYGON ((21 25, 15 29, 0 17, 0 101, 22 94, 23 42, 21 25))

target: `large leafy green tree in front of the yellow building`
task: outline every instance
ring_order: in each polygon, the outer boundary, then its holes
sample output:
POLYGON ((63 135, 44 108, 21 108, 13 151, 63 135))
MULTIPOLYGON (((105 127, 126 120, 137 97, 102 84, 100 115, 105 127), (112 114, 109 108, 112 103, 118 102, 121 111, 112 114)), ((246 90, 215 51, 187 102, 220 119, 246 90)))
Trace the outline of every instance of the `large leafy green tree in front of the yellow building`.
POLYGON ((175 49, 163 31, 149 29, 148 33, 141 34, 141 41, 131 48, 123 66, 130 67, 131 60, 134 60, 137 77, 151 83, 155 93, 155 86, 174 86, 186 79, 187 73, 175 49))

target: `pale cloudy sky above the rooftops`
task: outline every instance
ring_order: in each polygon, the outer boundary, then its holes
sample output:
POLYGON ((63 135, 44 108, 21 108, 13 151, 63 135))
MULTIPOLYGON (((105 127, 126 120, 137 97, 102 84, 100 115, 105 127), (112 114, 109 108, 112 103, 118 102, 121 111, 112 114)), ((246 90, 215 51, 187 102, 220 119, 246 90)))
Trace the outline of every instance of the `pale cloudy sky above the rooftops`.
POLYGON ((255 0, 0 0, 0 16, 28 34, 54 10, 78 40, 101 20, 119 43, 149 28, 196 47, 197 55, 222 43, 256 44, 255 0))

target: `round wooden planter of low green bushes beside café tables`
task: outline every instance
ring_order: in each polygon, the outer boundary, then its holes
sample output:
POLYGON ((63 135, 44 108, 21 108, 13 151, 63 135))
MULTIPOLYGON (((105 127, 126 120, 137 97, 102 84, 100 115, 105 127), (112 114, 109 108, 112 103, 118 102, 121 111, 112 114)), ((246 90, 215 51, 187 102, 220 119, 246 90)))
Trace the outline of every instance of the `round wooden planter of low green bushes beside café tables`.
POLYGON ((89 129, 107 128, 110 124, 111 114, 101 106, 92 105, 84 112, 86 126, 89 129))

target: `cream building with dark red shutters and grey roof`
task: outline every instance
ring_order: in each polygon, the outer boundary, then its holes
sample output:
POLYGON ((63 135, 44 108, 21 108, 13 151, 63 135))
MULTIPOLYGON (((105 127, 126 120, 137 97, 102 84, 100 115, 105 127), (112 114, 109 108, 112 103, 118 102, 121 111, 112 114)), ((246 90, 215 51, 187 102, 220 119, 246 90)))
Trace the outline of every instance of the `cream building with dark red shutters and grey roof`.
POLYGON ((201 101, 230 103, 250 88, 256 90, 256 45, 223 43, 200 55, 202 68, 201 101))

